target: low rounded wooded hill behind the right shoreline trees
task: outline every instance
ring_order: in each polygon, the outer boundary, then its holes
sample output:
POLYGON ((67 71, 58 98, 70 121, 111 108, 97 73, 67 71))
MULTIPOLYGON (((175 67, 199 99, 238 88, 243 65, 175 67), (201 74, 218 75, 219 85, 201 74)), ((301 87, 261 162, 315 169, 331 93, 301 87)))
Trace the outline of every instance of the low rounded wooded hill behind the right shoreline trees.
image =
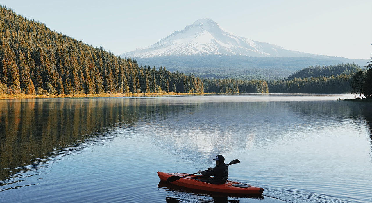
POLYGON ((292 75, 289 75, 288 80, 292 80, 294 78, 315 78, 319 76, 330 77, 332 75, 350 75, 358 72, 359 70, 360 66, 356 65, 355 63, 338 64, 331 66, 310 66, 300 71, 296 71, 292 75))

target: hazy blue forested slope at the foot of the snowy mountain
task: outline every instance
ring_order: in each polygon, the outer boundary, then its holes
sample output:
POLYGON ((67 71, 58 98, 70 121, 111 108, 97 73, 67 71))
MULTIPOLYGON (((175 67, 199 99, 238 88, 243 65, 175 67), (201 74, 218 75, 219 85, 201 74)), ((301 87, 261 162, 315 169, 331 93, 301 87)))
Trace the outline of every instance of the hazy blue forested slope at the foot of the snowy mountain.
POLYGON ((178 70, 207 78, 235 78, 277 80, 309 66, 329 66, 342 63, 356 63, 365 66, 368 60, 341 57, 248 57, 223 55, 161 56, 137 58, 139 65, 166 66, 170 71, 178 70))

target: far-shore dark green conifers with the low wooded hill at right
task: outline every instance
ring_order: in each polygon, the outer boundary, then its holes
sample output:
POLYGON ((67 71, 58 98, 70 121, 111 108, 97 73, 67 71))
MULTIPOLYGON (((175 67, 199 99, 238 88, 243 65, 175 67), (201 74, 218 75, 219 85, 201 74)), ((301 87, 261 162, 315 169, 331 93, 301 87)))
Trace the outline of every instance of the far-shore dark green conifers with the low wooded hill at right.
POLYGON ((360 67, 355 63, 304 68, 275 81, 202 79, 205 92, 221 93, 328 93, 352 91, 350 81, 360 67), (298 76, 298 77, 294 77, 298 76))

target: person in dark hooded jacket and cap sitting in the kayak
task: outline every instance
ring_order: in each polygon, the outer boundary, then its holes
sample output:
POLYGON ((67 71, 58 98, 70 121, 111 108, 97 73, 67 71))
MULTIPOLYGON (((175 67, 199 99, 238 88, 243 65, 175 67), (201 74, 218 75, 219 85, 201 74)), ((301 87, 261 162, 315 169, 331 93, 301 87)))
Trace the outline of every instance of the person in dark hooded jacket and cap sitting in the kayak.
POLYGON ((209 167, 208 171, 199 170, 198 173, 205 177, 199 176, 198 178, 206 183, 224 184, 229 176, 229 168, 225 164, 225 157, 222 155, 217 155, 213 160, 216 160, 216 167, 209 167), (214 177, 211 178, 211 176, 214 177))

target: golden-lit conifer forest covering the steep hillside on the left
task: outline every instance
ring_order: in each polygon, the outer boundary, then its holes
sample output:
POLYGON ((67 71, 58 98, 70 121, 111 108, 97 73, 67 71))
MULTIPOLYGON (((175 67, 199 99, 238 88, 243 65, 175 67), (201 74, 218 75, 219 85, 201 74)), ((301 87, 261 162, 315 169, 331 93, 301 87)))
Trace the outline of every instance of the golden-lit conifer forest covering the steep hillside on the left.
POLYGON ((203 92, 200 78, 138 67, 0 5, 0 93, 203 92))

